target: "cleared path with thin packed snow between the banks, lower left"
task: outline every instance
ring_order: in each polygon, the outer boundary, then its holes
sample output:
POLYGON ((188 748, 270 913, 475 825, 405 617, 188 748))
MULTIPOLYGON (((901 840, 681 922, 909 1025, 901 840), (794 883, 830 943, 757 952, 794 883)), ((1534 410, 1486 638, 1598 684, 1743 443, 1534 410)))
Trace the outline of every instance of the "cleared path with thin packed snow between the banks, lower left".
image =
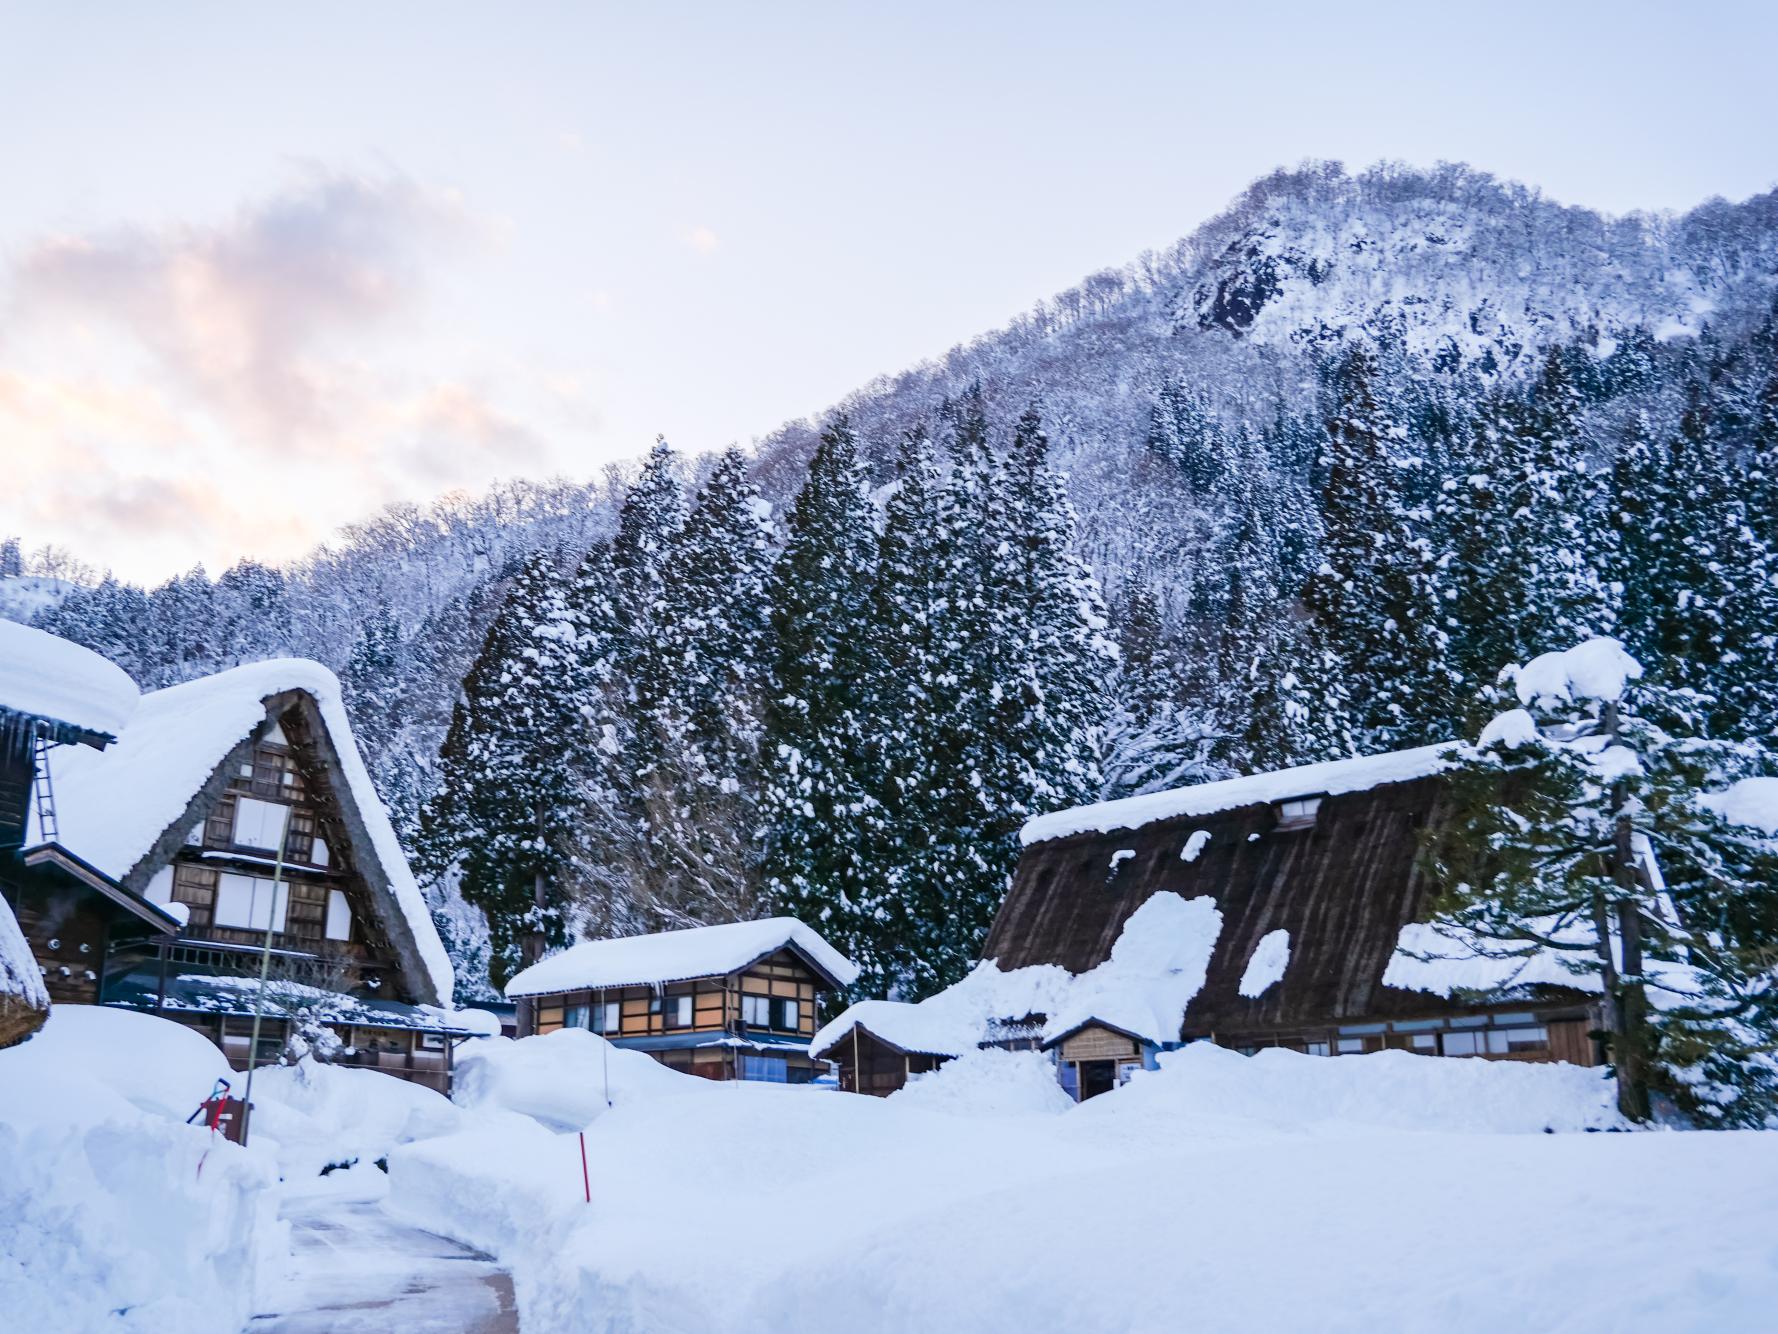
POLYGON ((517 1334, 512 1279, 480 1250, 391 1218, 386 1193, 370 1169, 286 1195, 290 1265, 247 1334, 517 1334))

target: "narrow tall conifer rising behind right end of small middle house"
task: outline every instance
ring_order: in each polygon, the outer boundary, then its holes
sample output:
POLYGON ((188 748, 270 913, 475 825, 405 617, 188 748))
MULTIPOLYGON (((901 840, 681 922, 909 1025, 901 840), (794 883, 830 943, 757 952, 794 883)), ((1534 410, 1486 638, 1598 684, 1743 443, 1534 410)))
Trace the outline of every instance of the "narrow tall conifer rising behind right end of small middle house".
POLYGON ((821 432, 784 528, 772 571, 761 880, 775 911, 825 932, 852 921, 864 896, 862 646, 877 564, 869 477, 843 416, 821 432))

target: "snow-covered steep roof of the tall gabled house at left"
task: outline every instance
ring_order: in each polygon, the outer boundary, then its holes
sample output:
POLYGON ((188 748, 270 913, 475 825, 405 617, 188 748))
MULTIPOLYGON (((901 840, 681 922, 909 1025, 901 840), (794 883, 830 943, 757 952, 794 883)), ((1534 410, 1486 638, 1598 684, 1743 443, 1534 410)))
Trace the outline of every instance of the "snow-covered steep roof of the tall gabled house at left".
MULTIPOLYGON (((354 863, 421 1000, 448 1001, 452 966, 407 866, 389 815, 359 756, 340 681, 318 662, 274 658, 142 695, 105 752, 57 751, 59 843, 98 872, 140 889, 204 815, 201 800, 226 761, 270 729, 274 701, 306 699, 324 761, 338 765, 334 797, 354 863)), ((226 775, 222 775, 226 783, 226 775)), ((32 838, 41 834, 34 829, 32 838)))

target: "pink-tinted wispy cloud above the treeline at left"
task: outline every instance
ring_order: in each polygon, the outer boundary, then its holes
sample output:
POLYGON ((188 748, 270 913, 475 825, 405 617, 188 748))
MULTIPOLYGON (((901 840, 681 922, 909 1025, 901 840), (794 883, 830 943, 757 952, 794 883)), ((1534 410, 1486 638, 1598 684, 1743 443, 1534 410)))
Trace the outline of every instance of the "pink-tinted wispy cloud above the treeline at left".
POLYGON ((0 532, 132 575, 215 569, 292 559, 389 500, 546 470, 509 400, 553 395, 427 342, 441 261, 494 231, 448 192, 309 169, 222 221, 25 245, 0 283, 18 484, 0 532))

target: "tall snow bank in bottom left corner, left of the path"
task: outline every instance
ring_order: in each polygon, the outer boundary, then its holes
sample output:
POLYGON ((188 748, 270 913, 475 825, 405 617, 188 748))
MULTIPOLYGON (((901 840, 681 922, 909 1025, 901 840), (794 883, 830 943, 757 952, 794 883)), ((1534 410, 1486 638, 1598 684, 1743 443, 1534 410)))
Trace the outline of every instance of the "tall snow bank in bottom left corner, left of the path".
POLYGON ((0 1051, 0 1327, 242 1329, 283 1229, 268 1160, 183 1124, 220 1060, 78 1005, 0 1051))

